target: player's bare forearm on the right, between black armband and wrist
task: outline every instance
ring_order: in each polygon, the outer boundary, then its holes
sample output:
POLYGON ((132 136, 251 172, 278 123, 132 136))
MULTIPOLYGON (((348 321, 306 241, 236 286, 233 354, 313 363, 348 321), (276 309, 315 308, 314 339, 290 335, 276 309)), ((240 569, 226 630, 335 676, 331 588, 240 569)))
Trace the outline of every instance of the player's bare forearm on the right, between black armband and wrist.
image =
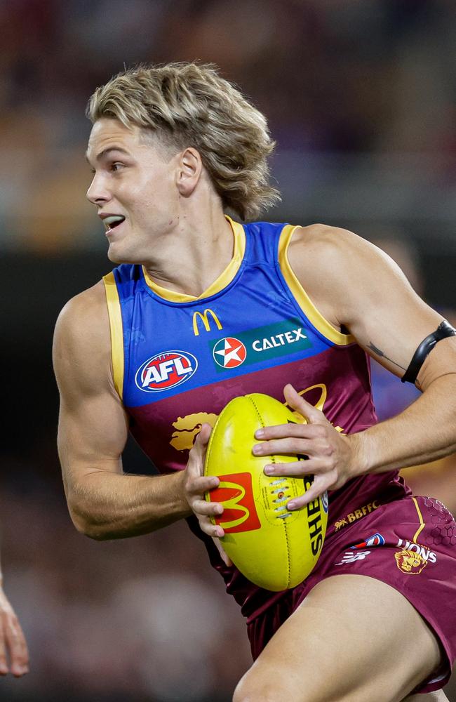
POLYGON ((435 461, 456 451, 456 374, 434 380, 398 416, 351 435, 360 472, 435 461))

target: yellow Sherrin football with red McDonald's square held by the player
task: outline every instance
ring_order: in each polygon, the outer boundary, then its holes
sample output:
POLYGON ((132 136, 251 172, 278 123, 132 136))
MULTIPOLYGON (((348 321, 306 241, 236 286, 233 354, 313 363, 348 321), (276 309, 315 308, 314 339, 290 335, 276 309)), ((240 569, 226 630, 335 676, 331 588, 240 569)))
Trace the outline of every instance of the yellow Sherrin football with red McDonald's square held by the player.
POLYGON ((254 456, 252 448, 257 429, 299 421, 305 420, 269 395, 235 397, 215 423, 204 467, 205 475, 220 479, 206 500, 224 507, 213 518, 224 529, 224 551, 246 578, 276 592, 293 588, 314 568, 326 533, 328 496, 290 512, 286 504, 309 489, 313 476, 267 476, 263 469, 304 458, 254 456))

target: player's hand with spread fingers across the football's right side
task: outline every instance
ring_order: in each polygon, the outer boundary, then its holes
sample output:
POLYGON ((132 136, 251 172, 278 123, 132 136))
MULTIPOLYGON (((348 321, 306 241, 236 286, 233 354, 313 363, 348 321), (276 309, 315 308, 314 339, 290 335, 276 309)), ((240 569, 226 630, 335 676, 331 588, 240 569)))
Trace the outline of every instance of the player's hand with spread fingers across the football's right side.
POLYGON ((287 507, 298 510, 326 490, 337 490, 360 472, 354 443, 340 434, 319 409, 306 402, 292 385, 286 385, 283 395, 292 409, 299 412, 307 424, 282 424, 255 432, 260 444, 253 446, 255 456, 293 454, 308 456, 307 461, 271 463, 264 467, 266 475, 301 477, 314 475, 314 482, 305 495, 293 499, 287 507))

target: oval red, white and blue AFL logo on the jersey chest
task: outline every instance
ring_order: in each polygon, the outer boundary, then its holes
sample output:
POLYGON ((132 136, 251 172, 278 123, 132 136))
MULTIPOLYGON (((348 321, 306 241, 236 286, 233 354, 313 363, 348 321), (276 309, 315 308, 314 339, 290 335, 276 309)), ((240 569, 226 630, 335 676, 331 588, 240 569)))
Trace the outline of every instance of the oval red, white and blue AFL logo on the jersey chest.
POLYGON ((191 353, 165 351, 147 359, 135 376, 135 383, 145 392, 170 390, 192 378, 198 361, 191 353))

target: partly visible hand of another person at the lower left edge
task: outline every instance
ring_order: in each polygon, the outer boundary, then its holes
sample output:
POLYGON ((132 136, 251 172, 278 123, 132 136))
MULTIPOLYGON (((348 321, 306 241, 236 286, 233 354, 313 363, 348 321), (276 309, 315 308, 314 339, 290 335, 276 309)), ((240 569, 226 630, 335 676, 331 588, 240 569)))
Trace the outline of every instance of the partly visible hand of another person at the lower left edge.
POLYGON ((29 672, 29 653, 18 617, 0 584, 0 675, 29 672), (9 665, 8 665, 9 664, 9 665))

